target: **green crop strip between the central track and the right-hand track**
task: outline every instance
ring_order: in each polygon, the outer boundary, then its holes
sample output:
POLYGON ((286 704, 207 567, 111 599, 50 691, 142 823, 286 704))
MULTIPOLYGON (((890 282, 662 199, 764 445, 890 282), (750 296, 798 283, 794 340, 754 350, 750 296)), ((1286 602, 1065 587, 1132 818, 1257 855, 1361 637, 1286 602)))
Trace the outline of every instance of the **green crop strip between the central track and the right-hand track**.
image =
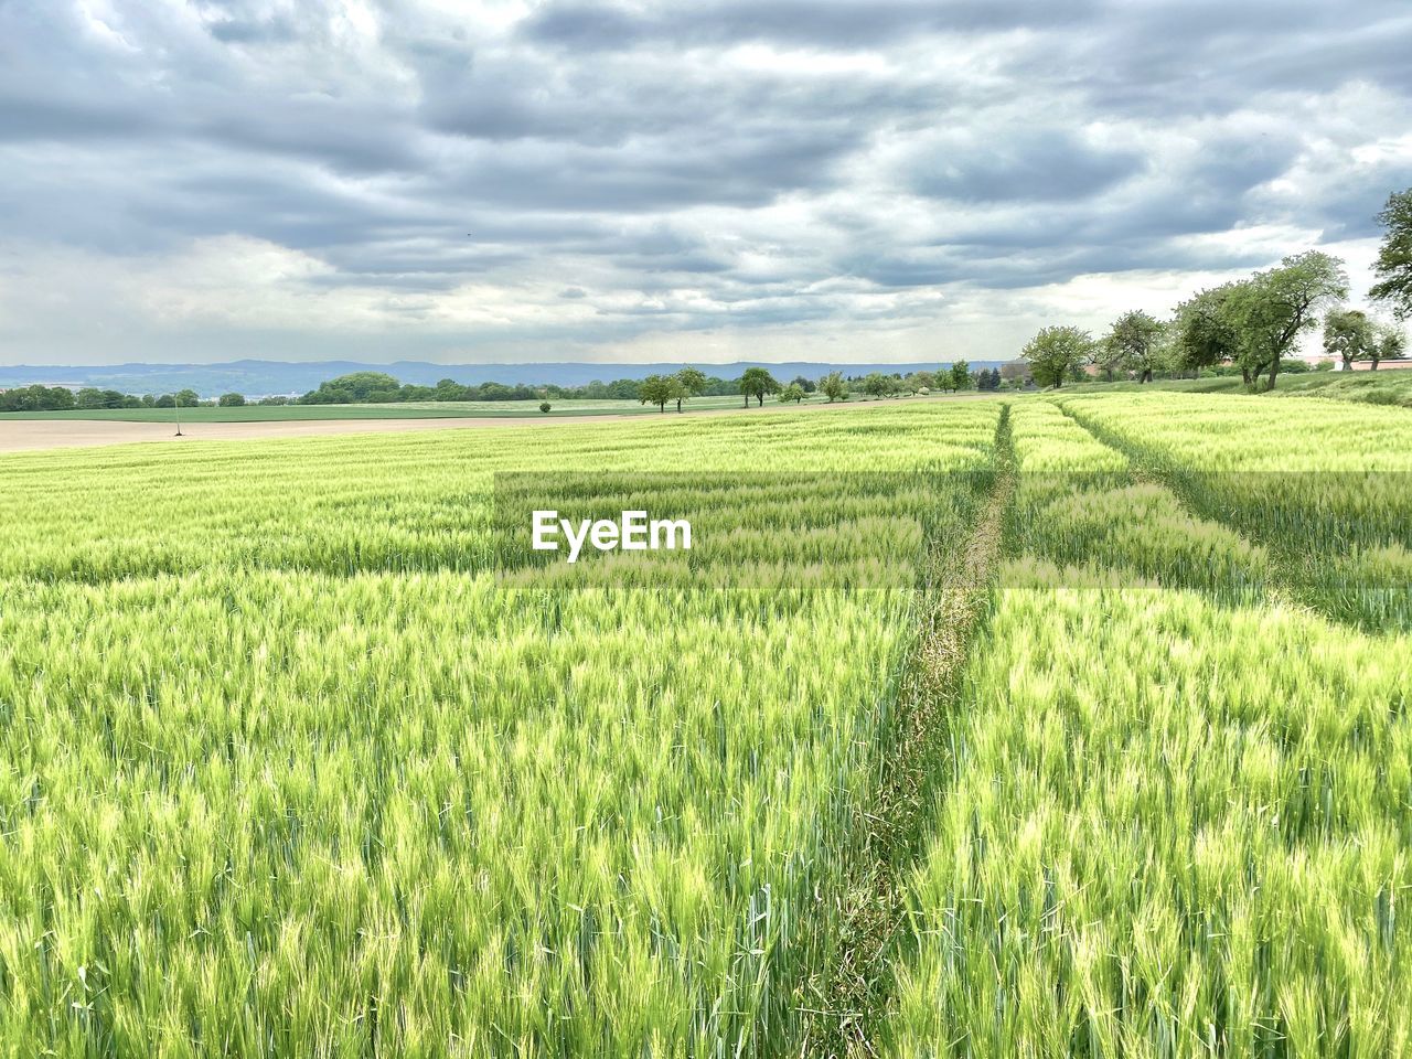
POLYGON ((1408 1053, 1412 644, 1265 603, 1258 545, 1058 408, 1014 436, 888 1052, 1408 1053))

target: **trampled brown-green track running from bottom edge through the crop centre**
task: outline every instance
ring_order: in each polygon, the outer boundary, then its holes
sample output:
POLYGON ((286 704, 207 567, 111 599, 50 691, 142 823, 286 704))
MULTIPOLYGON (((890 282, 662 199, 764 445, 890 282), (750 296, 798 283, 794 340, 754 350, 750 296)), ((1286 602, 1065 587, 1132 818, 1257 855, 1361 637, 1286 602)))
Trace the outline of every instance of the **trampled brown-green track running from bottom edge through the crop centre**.
POLYGON ((949 782, 950 730, 967 651, 988 614, 1015 494, 1010 405, 995 426, 995 479, 962 548, 931 541, 921 576, 922 628, 898 689, 888 753, 857 810, 840 890, 820 897, 823 966, 802 986, 802 1038, 792 1055, 878 1055, 892 1007, 892 964, 905 928, 908 873, 926 849, 938 788, 949 782))

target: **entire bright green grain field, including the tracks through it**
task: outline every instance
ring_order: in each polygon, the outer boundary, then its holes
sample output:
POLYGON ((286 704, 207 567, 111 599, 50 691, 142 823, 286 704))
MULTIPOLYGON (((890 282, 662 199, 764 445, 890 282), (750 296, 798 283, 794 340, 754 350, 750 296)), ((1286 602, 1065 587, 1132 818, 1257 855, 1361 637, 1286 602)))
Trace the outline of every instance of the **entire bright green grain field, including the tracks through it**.
POLYGON ((792 412, 0 456, 0 1051, 1412 1053, 1406 412, 792 412))

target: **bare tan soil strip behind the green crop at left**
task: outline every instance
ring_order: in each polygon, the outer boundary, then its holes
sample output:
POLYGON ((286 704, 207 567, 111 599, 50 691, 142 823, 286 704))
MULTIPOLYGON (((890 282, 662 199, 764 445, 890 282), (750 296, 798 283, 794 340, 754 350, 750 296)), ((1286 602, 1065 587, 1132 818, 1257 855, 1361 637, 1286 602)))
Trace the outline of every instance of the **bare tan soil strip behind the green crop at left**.
MULTIPOLYGON (((789 408, 770 408, 774 412, 860 411, 891 407, 914 401, 977 400, 984 394, 949 394, 945 397, 901 397, 888 401, 849 401, 840 404, 805 404, 789 408)), ((751 407, 751 412, 760 412, 751 407)), ((449 431, 484 426, 554 426, 556 424, 614 422, 640 419, 642 422, 681 422, 700 415, 746 415, 744 408, 703 408, 676 415, 651 412, 600 412, 596 415, 539 415, 539 417, 428 417, 418 419, 273 419, 261 422, 189 422, 182 424, 182 436, 174 436, 169 422, 119 422, 112 419, 0 419, 0 452, 28 452, 35 449, 69 449, 95 445, 127 445, 131 442, 184 441, 258 441, 263 438, 306 438, 326 433, 402 433, 407 431, 449 431)))

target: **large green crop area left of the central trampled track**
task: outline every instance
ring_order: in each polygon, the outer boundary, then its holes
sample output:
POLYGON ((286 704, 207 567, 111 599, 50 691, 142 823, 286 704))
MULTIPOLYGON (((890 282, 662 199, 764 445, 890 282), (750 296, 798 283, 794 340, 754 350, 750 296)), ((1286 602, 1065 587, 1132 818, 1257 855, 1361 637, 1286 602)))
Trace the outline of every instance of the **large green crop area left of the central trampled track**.
MULTIPOLYGON (((998 411, 4 459, 3 1051, 775 1053, 911 582, 505 586, 493 474, 923 474, 827 508, 912 562, 998 411)), ((802 562, 801 489, 690 501, 802 562)))

